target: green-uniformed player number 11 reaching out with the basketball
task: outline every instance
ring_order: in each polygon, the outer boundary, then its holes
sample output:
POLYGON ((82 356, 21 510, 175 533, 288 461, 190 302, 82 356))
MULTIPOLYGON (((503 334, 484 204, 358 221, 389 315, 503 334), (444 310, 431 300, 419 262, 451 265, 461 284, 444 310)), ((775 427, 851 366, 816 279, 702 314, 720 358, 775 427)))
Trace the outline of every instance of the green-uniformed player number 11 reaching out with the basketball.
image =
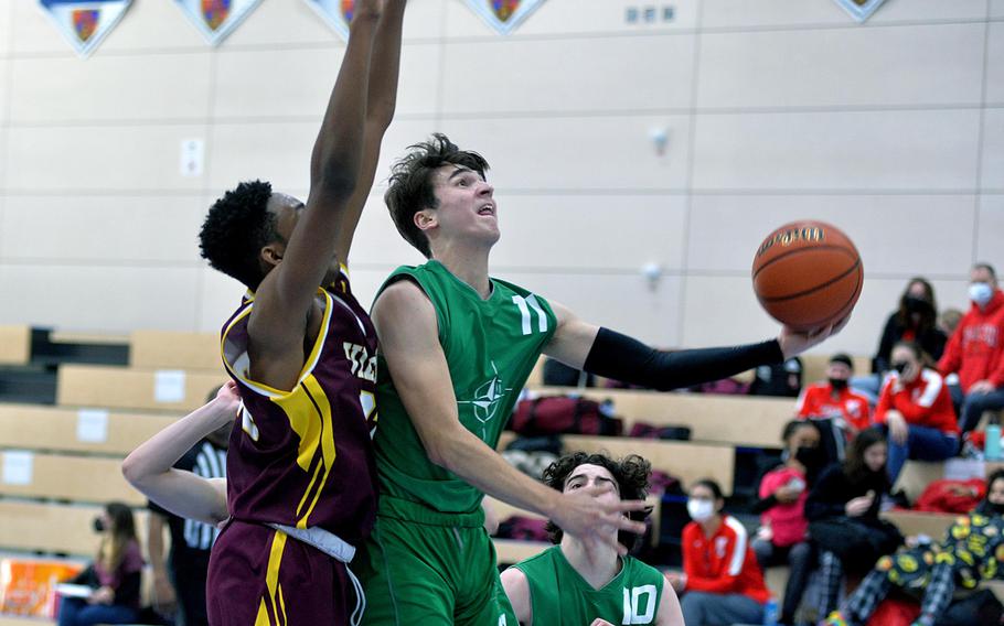
POLYGON ((489 277, 500 234, 487 170, 482 156, 437 134, 392 171, 391 215, 429 261, 395 270, 373 305, 381 501, 354 565, 369 600, 364 624, 514 626, 482 528, 483 493, 621 554, 611 531, 643 531, 623 515, 643 501, 597 498, 602 487, 556 492, 495 452, 541 353, 608 378, 673 389, 781 363, 835 331, 786 328, 760 344, 670 354, 583 322, 489 277))

